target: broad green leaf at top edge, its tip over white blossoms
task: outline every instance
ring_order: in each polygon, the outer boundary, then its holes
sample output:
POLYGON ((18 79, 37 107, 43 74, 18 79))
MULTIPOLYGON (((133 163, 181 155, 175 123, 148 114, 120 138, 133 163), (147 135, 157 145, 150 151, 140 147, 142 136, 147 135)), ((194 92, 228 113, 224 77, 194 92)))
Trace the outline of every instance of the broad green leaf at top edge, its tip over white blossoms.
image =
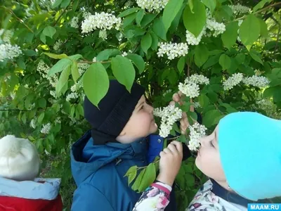
POLYGON ((206 24, 206 11, 205 6, 200 0, 195 0, 193 2, 193 12, 190 11, 190 7, 185 6, 183 11, 183 24, 185 29, 198 37, 200 32, 202 32, 204 25, 206 24))

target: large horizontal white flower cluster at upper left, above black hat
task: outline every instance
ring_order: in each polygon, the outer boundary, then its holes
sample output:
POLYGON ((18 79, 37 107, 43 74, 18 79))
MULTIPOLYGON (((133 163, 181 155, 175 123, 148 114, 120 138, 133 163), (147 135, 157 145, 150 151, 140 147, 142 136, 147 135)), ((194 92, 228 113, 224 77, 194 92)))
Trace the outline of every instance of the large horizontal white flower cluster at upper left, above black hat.
POLYGON ((95 15, 89 15, 83 20, 81 30, 82 33, 89 33, 96 29, 111 30, 113 27, 119 30, 121 23, 121 18, 116 18, 115 15, 110 13, 95 13, 95 15))

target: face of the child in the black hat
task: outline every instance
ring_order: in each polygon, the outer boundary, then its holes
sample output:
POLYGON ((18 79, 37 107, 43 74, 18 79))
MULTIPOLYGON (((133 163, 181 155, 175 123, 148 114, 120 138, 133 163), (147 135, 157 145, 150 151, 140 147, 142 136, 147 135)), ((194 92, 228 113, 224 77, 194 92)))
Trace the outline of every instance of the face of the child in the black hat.
POLYGON ((117 137, 117 141, 131 143, 138 138, 148 136, 156 131, 157 124, 155 124, 153 108, 145 102, 145 96, 141 96, 130 120, 117 137))

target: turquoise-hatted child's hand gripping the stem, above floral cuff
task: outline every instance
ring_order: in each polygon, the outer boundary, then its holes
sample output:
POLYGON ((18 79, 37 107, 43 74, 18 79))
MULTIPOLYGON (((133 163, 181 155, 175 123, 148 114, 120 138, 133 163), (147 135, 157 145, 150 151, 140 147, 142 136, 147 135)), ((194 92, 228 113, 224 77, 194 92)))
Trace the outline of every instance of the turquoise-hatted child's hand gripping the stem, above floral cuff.
POLYGON ((183 159, 183 145, 179 141, 172 141, 167 148, 160 153, 158 181, 172 186, 176 174, 181 168, 183 159))

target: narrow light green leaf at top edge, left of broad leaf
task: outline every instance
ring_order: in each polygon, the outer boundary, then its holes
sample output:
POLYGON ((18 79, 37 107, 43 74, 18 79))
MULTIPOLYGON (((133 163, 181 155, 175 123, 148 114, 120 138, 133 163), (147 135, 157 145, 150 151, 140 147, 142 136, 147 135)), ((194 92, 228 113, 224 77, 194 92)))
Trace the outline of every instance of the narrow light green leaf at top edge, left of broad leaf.
POLYGON ((166 4, 163 11, 163 23, 166 31, 169 30, 171 23, 173 22, 176 15, 181 10, 181 6, 183 5, 183 0, 169 0, 168 4, 166 4))

